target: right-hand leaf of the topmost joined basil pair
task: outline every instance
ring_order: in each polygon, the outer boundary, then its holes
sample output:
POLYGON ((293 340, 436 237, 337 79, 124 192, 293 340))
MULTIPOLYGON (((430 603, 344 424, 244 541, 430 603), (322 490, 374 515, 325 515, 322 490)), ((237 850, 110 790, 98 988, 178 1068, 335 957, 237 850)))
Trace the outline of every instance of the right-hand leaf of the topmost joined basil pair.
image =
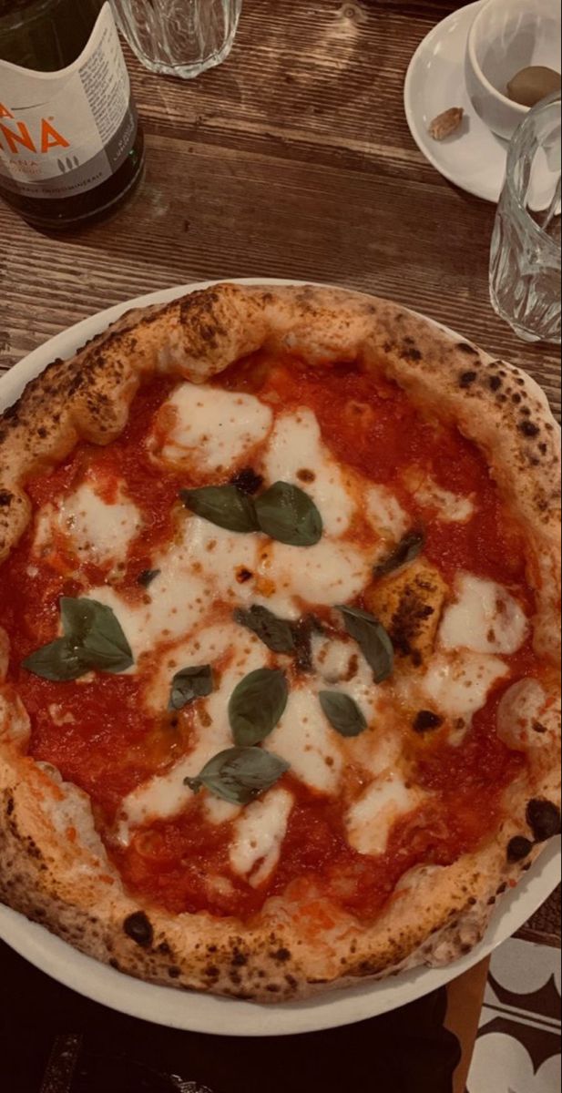
POLYGON ((312 497, 297 485, 276 482, 256 497, 255 506, 261 531, 280 543, 314 546, 321 539, 321 516, 312 497))

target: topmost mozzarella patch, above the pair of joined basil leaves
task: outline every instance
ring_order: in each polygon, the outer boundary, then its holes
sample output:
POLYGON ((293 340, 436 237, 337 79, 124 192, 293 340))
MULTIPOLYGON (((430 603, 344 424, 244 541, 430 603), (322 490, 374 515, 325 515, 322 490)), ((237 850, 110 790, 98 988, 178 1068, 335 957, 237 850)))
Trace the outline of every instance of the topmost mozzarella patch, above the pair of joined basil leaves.
POLYGON ((249 458, 266 439, 272 413, 254 395, 186 383, 163 404, 160 420, 172 422, 161 450, 166 462, 215 473, 249 458))

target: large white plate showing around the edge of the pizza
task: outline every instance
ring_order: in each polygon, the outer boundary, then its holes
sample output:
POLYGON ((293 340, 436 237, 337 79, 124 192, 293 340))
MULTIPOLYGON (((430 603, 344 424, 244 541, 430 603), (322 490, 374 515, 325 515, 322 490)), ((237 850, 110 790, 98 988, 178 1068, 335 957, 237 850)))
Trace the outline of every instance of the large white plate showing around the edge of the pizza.
MULTIPOLYGON (((243 284, 295 284, 266 278, 242 281, 243 284)), ((37 376, 56 357, 70 356, 89 338, 104 330, 130 307, 165 303, 184 292, 195 292, 216 282, 183 285, 150 293, 93 315, 65 330, 20 361, 0 379, 0 410, 17 398, 32 377, 37 376)), ((458 337, 458 336, 457 336, 458 337)), ((484 940, 463 960, 446 968, 417 968, 377 984, 320 995, 306 1002, 257 1006, 226 998, 213 998, 155 987, 115 972, 84 956, 43 927, 27 921, 8 907, 0 906, 0 937, 65 986, 78 990, 93 1001, 102 1002, 121 1013, 153 1021, 156 1024, 190 1032, 222 1036, 288 1036, 353 1024, 367 1018, 406 1006, 417 998, 442 987, 489 955, 502 941, 523 926, 548 898, 560 879, 560 841, 550 845, 539 861, 526 874, 517 889, 504 896, 495 910, 484 940)))

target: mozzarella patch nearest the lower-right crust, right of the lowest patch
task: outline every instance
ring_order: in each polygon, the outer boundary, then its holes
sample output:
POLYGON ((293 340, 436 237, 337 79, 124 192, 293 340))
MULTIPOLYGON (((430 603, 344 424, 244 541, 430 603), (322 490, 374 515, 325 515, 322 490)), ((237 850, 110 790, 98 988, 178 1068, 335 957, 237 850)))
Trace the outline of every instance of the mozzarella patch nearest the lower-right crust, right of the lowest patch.
POLYGON ((397 820, 418 808, 423 790, 409 788, 398 771, 387 771, 351 806, 346 818, 348 842, 359 854, 384 854, 397 820))

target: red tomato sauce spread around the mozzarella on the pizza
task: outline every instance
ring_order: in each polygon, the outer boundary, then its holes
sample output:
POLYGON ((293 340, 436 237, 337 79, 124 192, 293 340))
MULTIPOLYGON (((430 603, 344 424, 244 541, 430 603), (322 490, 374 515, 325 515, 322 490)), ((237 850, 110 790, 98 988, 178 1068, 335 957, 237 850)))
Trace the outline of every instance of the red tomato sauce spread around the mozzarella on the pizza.
MULTIPOLYGON (((414 518, 421 519, 421 510, 401 482, 406 468, 422 468, 444 489, 472 495, 477 514, 467 524, 429 521, 426 556, 449 581, 466 568, 502 581, 532 607, 525 585, 524 538, 483 456, 455 428, 422 416, 398 387, 354 366, 318 372, 294 360, 272 362, 264 354, 238 362, 220 386, 258 393, 273 410, 312 408, 333 455, 373 482, 391 486, 414 518)), ((114 444, 81 444, 59 468, 28 483, 38 508, 92 474, 97 483, 106 480, 109 493, 117 478, 126 481, 144 526, 119 587, 138 596, 139 574, 172 533, 178 491, 191 484, 185 475, 156 467, 147 447, 154 416, 171 389, 167 380, 152 383, 137 396, 129 424, 114 444)), ((0 621, 11 637, 9 678, 30 713, 30 753, 52 763, 91 796, 102 836, 131 889, 174 913, 207 908, 216 915, 251 917, 268 896, 284 892, 300 898, 305 878, 307 890, 316 886, 344 909, 370 919, 406 870, 419 862, 447 865, 476 848, 493 827, 501 791, 524 763, 495 733, 503 685, 476 715, 460 747, 437 738, 419 749, 417 780, 430 791, 429 803, 395 825, 383 856, 355 853, 346 839, 344 804, 313 794, 290 773, 284 784, 296 804, 279 866, 257 889, 231 870, 231 824, 207 823, 199 797, 182 814, 138 830, 129 847, 119 847, 112 832, 124 796, 173 765, 185 747, 185 732, 169 714, 159 720, 144 712, 137 675, 96 674, 50 683, 21 668, 25 656, 57 636, 60 597, 81 595, 107 576, 91 562, 77 573, 74 560, 69 577, 63 551, 60 564, 50 559, 38 572, 32 543, 30 529, 2 566, 0 580, 0 621)), ((517 677, 539 670, 528 646, 513 665, 517 677)))

